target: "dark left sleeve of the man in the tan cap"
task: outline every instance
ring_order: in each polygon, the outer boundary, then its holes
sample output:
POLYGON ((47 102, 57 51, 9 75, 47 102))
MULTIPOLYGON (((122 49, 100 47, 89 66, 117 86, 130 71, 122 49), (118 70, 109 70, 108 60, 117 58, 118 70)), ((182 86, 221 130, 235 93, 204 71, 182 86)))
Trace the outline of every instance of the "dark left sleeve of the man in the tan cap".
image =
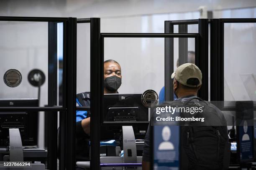
POLYGON ((144 147, 143 147, 143 156, 142 160, 145 162, 150 162, 151 161, 151 123, 149 122, 148 124, 148 130, 145 136, 145 142, 144 142, 144 147))

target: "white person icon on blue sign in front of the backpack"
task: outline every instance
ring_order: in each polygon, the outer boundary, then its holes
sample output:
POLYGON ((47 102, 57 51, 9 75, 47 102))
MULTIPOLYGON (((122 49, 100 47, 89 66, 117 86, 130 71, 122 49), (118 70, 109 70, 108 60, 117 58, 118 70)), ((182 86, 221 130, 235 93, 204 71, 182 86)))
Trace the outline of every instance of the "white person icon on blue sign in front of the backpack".
POLYGON ((174 150, 174 146, 168 140, 171 138, 172 132, 168 126, 165 126, 162 130, 162 138, 164 142, 160 143, 158 150, 174 150))

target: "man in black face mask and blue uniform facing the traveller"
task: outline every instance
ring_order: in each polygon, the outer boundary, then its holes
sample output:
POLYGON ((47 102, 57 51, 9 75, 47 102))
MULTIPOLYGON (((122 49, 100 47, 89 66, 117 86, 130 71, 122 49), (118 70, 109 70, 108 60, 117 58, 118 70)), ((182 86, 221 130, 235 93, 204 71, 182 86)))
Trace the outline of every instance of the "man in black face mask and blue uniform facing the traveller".
MULTIPOLYGON (((121 85, 121 67, 115 60, 104 62, 104 94, 118 93, 121 85)), ((90 106, 90 92, 77 94, 77 106, 90 106)), ((93 113, 92 113, 93 114, 93 113)), ((90 160, 90 112, 77 111, 77 161, 90 160)))

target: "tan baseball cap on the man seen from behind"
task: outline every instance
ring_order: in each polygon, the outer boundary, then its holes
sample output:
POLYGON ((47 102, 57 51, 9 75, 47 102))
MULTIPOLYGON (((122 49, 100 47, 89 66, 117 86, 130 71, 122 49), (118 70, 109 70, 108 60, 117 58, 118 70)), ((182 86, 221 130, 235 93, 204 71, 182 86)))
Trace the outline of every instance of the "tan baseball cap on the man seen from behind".
POLYGON ((172 78, 175 78, 175 80, 177 80, 182 85, 189 87, 199 87, 202 85, 202 72, 195 64, 192 63, 185 63, 180 65, 175 70, 175 72, 172 73, 172 78), (199 84, 187 84, 187 80, 189 80, 189 78, 197 78, 199 80, 199 84))

